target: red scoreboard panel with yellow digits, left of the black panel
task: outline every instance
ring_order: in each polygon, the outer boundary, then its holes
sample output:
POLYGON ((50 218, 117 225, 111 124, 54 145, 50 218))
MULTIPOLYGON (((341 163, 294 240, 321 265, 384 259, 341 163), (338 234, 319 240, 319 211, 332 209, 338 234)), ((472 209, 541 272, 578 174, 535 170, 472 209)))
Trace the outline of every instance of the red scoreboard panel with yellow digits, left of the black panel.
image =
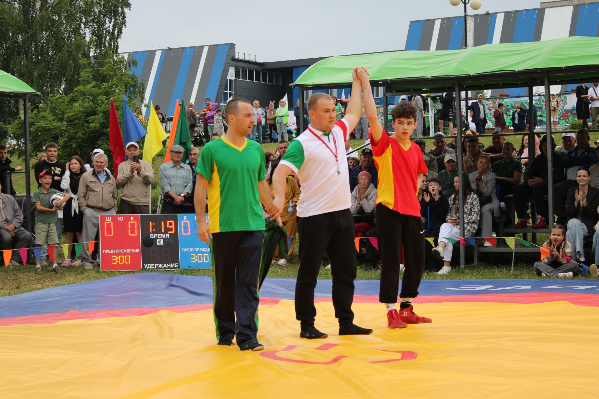
POLYGON ((141 270, 140 215, 100 217, 102 270, 141 270))

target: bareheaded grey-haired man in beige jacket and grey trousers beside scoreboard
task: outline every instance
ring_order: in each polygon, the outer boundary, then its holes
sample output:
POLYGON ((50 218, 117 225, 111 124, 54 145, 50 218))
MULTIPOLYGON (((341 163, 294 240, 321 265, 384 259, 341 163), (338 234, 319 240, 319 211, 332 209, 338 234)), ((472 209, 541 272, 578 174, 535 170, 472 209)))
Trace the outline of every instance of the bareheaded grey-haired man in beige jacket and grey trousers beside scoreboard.
MULTIPOLYGON (((105 154, 97 154, 93 158, 93 169, 81 175, 77 202, 79 211, 83 212, 83 233, 81 238, 84 243, 95 240, 100 223, 100 215, 116 215, 116 182, 114 176, 106 172, 108 158, 105 154)), ((100 264, 99 242, 98 266, 100 264)), ((87 245, 81 246, 81 266, 84 269, 93 268, 93 260, 87 250, 87 245)))

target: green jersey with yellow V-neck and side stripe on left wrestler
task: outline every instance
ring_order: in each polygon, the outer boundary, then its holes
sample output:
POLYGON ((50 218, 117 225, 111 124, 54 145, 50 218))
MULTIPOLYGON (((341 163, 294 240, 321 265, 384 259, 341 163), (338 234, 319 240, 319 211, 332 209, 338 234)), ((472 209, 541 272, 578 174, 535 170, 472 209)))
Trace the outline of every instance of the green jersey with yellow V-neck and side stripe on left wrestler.
POLYGON ((266 173, 262 147, 255 141, 237 147, 225 137, 208 142, 196 172, 208 181, 210 232, 264 230, 258 182, 266 173))

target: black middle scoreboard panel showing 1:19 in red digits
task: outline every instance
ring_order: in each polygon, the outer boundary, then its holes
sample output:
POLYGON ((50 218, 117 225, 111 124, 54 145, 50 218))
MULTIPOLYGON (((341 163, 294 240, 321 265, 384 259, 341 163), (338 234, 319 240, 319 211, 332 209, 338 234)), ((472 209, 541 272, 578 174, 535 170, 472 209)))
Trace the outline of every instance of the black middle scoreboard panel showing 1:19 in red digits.
POLYGON ((141 269, 179 269, 177 215, 140 215, 141 269))

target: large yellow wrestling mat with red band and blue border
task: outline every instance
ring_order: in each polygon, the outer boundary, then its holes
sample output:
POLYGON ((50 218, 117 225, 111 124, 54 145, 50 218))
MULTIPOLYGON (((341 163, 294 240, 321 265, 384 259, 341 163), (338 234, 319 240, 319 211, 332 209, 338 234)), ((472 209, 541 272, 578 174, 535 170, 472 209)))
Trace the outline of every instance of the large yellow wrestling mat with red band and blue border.
POLYGON ((599 282, 423 281, 432 324, 386 327, 378 281, 356 281, 337 336, 331 281, 299 338, 293 279, 261 290, 264 352, 216 346, 209 277, 137 273, 0 299, 2 398, 505 398, 599 394, 599 282))

